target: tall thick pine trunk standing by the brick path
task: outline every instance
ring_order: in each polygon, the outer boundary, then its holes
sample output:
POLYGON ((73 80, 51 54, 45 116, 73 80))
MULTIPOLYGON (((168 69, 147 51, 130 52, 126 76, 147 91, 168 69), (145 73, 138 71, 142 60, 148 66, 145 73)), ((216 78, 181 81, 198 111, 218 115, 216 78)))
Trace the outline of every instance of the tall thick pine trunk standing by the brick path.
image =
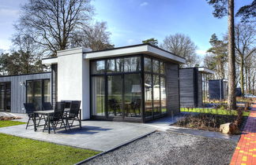
POLYGON ((228 0, 228 109, 235 110, 235 24, 234 0, 228 0))

